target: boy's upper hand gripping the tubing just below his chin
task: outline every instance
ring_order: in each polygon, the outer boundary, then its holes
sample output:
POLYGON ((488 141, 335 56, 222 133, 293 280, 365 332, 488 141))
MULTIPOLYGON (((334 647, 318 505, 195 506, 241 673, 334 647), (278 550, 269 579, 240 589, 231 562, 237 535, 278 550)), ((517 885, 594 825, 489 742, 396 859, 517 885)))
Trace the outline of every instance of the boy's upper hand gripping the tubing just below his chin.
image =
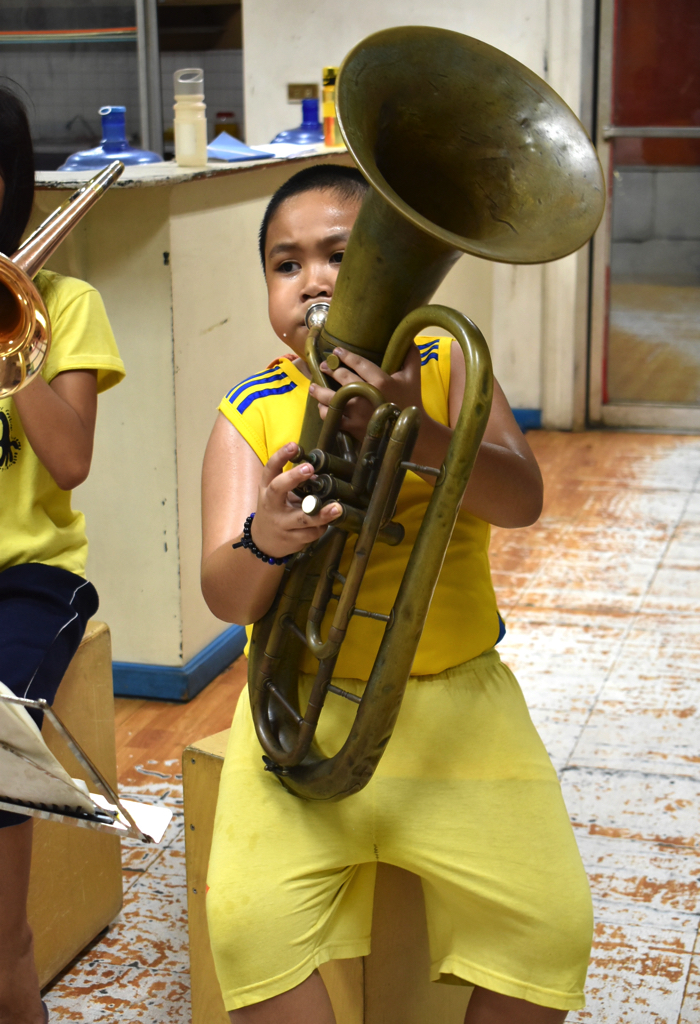
MULTIPOLYGON (((361 355, 355 355, 344 348, 335 348, 334 352, 345 366, 338 370, 330 370, 326 362, 321 362, 320 369, 327 377, 333 377, 341 385, 351 384, 353 381, 366 381, 367 384, 371 384, 378 391, 382 392, 386 401, 392 401, 399 409, 418 406, 420 410, 423 410, 421 354, 415 345, 411 345, 409 348, 401 369, 391 376, 385 374, 370 359, 364 359, 361 355)), ((318 400, 318 412, 321 419, 324 420, 329 412, 329 404, 336 392, 330 388, 319 387, 317 384, 311 384, 309 392, 318 400)), ((374 411, 374 407, 363 398, 352 398, 345 407, 341 421, 343 430, 361 441, 374 411)))

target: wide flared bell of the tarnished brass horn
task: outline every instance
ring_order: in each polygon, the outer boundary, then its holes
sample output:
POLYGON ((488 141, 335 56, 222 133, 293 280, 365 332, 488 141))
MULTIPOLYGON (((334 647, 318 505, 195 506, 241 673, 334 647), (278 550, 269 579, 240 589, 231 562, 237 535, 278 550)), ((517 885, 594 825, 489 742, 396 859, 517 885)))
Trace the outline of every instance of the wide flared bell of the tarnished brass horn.
POLYGON ((462 252, 543 263, 579 249, 600 223, 603 172, 583 126, 487 43, 444 29, 378 32, 343 61, 337 102, 374 190, 343 256, 327 348, 341 341, 379 362, 462 252))

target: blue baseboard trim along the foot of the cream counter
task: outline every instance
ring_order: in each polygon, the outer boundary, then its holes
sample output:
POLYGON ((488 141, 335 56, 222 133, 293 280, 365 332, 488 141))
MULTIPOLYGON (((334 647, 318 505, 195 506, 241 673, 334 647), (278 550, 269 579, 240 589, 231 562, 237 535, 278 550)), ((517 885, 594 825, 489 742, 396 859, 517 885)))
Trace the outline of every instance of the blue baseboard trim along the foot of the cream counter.
POLYGON ((243 653, 246 630, 231 626, 182 668, 113 662, 115 696, 191 700, 243 653))

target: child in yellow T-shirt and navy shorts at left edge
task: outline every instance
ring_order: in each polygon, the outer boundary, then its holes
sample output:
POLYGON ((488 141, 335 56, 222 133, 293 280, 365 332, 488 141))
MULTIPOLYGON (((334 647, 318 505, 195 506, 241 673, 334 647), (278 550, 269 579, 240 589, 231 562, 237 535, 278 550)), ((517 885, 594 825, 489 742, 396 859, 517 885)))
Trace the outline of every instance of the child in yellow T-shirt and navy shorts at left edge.
MULTIPOLYGON (((34 200, 27 114, 0 88, 0 252, 12 256, 34 200)), ((124 365, 104 306, 83 281, 35 278, 51 321, 46 361, 31 383, 0 398, 0 681, 17 696, 53 703, 97 593, 85 579, 87 538, 71 492, 87 478, 97 395, 124 365)), ((38 712, 30 712, 41 722, 38 712)), ((32 820, 0 810, 0 1022, 43 1024, 27 895, 32 820)))

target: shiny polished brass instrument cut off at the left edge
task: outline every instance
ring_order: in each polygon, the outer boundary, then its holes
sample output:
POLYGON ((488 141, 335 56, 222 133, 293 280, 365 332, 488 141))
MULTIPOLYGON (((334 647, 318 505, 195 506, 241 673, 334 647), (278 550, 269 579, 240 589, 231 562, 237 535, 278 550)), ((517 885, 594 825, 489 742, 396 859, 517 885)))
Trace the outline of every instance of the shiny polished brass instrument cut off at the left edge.
POLYGON ((54 210, 13 256, 0 253, 0 398, 29 384, 51 344, 46 306, 32 279, 123 170, 124 164, 114 161, 54 210))

